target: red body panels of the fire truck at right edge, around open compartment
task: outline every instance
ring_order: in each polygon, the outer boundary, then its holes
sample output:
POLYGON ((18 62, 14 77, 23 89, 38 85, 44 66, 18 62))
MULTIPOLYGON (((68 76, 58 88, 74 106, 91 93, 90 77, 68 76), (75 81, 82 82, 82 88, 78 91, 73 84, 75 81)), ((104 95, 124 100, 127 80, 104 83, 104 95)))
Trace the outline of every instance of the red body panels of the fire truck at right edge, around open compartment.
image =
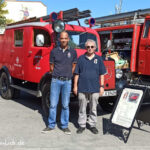
POLYGON ((97 32, 109 31, 110 39, 112 31, 121 29, 133 29, 132 48, 130 59, 130 72, 139 75, 150 75, 150 16, 145 17, 141 24, 119 25, 96 29, 97 32), (146 23, 149 22, 146 26, 146 23), (144 37, 147 28, 147 36, 144 37))

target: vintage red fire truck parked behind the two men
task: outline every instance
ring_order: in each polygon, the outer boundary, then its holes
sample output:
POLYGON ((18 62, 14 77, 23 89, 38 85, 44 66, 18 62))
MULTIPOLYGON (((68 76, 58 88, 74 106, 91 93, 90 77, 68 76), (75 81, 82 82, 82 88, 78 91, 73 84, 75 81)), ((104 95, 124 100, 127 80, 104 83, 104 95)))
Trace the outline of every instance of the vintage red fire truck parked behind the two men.
MULTIPOLYGON (((49 88, 51 74, 49 73, 50 51, 59 44, 57 37, 64 29, 70 36, 70 47, 80 56, 86 52, 84 44, 87 39, 97 42, 96 53, 101 55, 98 33, 91 28, 79 25, 69 25, 67 22, 89 17, 90 11, 80 12, 77 8, 59 13, 51 13, 41 18, 30 18, 16 22, 6 27, 0 35, 0 93, 4 99, 19 96, 20 91, 42 97, 42 108, 48 114, 49 88)), ((114 75, 114 61, 106 61, 108 74, 114 75), (113 69, 111 69, 111 66, 113 69)), ((90 68, 89 68, 90 69, 90 68)), ((115 91, 114 80, 106 75, 105 95, 115 91)))

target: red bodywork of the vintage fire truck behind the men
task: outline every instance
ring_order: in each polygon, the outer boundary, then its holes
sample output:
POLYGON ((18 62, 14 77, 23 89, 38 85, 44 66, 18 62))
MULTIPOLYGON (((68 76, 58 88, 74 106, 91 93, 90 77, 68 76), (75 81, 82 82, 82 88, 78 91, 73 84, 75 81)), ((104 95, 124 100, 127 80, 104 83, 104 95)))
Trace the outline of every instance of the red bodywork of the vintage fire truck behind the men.
MULTIPOLYGON (((66 25, 67 31, 88 32, 96 35, 98 43, 97 55, 101 56, 100 39, 98 33, 90 28, 75 25, 66 25)), ((54 31, 51 25, 45 26, 22 26, 7 29, 4 35, 0 36, 0 68, 6 66, 12 77, 39 83, 42 76, 49 71, 49 54, 55 47, 54 31), (50 47, 33 46, 33 28, 46 30, 51 37, 50 47), (14 30, 23 30, 23 46, 14 46, 14 30)), ((76 49, 78 57, 86 50, 76 49)))

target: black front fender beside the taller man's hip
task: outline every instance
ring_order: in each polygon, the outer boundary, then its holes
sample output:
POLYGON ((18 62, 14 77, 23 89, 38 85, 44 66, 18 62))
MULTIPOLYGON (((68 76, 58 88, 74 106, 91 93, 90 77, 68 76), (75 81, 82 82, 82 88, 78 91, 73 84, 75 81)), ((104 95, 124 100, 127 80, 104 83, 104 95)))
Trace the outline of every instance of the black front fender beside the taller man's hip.
POLYGON ((40 82, 38 83, 38 90, 41 91, 43 85, 44 85, 45 83, 51 82, 51 79, 52 79, 52 74, 50 74, 49 72, 46 72, 46 73, 42 76, 40 82))

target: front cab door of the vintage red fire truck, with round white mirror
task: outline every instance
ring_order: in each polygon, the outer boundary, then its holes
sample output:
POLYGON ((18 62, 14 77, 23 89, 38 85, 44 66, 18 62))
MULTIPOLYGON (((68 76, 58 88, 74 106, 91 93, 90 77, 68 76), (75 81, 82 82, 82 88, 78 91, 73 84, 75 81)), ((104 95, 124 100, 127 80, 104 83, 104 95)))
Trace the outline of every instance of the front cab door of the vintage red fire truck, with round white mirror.
POLYGON ((31 46, 26 51, 25 80, 39 82, 43 74, 49 71, 49 54, 54 48, 50 34, 44 28, 34 27, 31 46))

